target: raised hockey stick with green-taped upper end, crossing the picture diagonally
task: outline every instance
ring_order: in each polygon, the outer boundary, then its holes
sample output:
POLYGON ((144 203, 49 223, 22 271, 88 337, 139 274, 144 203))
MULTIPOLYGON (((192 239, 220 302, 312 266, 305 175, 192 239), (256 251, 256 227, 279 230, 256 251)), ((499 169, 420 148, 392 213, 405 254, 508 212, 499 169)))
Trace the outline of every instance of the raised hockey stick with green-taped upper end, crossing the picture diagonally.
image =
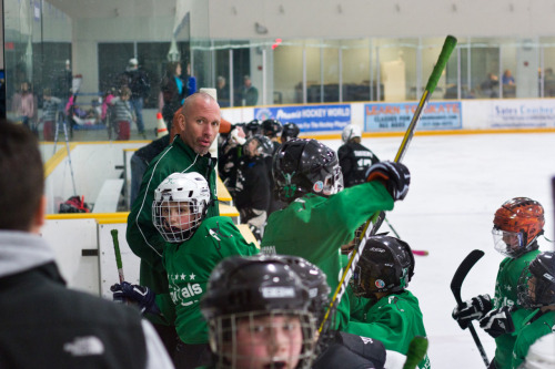
MULTIPOLYGON (((427 101, 430 100, 430 96, 435 90, 435 86, 437 85, 437 81, 440 80, 440 76, 442 75, 443 70, 445 69, 445 65, 447 64, 447 61, 450 59, 451 53, 456 47, 456 39, 452 35, 447 35, 445 39, 445 42, 443 43, 443 49, 442 52, 440 53, 440 57, 437 58, 437 63, 434 66, 434 70, 432 72, 432 75, 430 75, 430 79, 426 84, 426 89, 424 90, 424 93, 422 94, 422 99, 418 103, 418 106, 416 106, 416 111, 414 112, 414 116, 411 121, 411 124, 408 124, 408 127, 406 129, 405 136, 403 137, 403 142, 401 143, 401 147, 398 147, 397 155, 395 156, 395 162, 401 162, 403 158, 403 155, 405 154, 406 148, 408 147, 408 144, 411 143, 411 140, 414 135, 414 129, 416 127, 416 123, 418 122, 420 115, 422 114, 422 111, 424 110, 424 106, 426 105, 427 101)), ((371 217, 371 219, 373 216, 371 217)), ((322 324, 320 325, 319 332, 322 334, 324 330, 324 327, 330 325, 330 315, 332 311, 335 310, 335 307, 337 306, 339 301, 341 301, 341 297, 346 290, 346 287, 349 285, 349 280, 351 279, 351 276, 354 273, 354 268, 356 267, 356 264, 359 263, 359 259, 361 257, 362 252, 364 250, 364 247, 366 246, 366 240, 369 237, 372 237, 373 235, 376 234, 377 229, 383 223, 383 219, 385 218, 385 213, 380 212, 380 215, 376 219, 376 223, 374 224, 374 227, 370 229, 370 221, 366 222, 366 225, 364 227, 364 230, 362 232, 361 235, 361 243, 355 246, 353 252, 351 253, 351 257, 349 258, 349 263, 345 266, 345 270, 343 271, 343 275, 341 276, 341 280, 337 285, 337 288, 335 289, 335 293, 333 294, 332 300, 330 303, 330 308, 325 312, 325 316, 322 320, 322 324)), ((322 337, 323 335, 320 335, 322 337)))

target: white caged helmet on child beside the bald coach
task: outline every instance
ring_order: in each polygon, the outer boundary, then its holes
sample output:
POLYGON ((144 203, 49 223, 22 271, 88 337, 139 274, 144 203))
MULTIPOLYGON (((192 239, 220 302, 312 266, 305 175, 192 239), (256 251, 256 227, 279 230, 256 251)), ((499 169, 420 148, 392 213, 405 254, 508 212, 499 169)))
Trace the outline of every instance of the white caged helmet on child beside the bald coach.
POLYGON ((152 223, 169 243, 191 238, 210 203, 206 180, 196 172, 172 173, 154 191, 152 223))

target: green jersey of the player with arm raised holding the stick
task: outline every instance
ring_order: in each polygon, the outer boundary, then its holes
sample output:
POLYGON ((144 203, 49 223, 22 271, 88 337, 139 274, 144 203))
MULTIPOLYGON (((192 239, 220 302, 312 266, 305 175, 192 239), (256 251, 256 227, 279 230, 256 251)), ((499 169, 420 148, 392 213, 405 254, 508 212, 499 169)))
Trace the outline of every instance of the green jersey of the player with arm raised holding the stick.
MULTIPOLYGON (((327 276, 333 296, 341 279, 340 248, 374 213, 391 211, 393 198, 379 182, 363 183, 330 196, 307 194, 272 213, 261 242, 263 253, 296 255, 327 276)), ((349 299, 337 306, 335 328, 349 322, 349 299)))

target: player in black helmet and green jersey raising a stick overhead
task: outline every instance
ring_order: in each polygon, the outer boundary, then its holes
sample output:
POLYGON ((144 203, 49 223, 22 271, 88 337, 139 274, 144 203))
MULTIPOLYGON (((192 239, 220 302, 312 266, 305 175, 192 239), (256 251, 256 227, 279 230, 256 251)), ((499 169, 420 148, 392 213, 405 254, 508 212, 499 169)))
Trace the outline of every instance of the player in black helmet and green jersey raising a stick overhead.
MULTIPOLYGON (((301 256, 327 275, 332 291, 339 285, 341 245, 373 214, 392 209, 408 191, 403 164, 383 162, 369 170, 367 183, 341 191, 343 177, 335 152, 315 140, 292 140, 274 156, 273 175, 280 198, 289 205, 268 219, 262 249, 301 256), (286 229, 286 232, 284 232, 286 229)), ((337 307, 336 325, 349 321, 349 300, 337 307)), ((337 327, 334 327, 337 328, 337 327)))

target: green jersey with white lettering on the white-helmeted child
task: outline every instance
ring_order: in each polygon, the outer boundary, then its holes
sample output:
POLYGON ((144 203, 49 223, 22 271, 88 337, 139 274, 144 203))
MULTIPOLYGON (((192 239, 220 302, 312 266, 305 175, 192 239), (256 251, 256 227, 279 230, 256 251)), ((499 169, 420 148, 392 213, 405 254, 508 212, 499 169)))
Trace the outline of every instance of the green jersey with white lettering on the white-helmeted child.
POLYGON ((216 264, 232 255, 258 253, 256 246, 248 244, 231 218, 224 216, 204 219, 191 239, 165 246, 164 266, 170 296, 175 305, 175 328, 184 344, 209 341, 199 301, 206 291, 210 273, 216 264))

